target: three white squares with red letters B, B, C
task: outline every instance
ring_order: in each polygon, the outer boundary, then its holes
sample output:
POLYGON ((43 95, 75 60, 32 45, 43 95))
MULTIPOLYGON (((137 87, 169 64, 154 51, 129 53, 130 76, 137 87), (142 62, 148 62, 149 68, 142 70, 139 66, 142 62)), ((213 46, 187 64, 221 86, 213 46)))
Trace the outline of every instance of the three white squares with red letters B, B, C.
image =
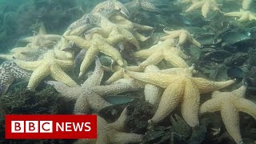
POLYGON ((53 133, 53 121, 11 121, 11 133, 53 133))

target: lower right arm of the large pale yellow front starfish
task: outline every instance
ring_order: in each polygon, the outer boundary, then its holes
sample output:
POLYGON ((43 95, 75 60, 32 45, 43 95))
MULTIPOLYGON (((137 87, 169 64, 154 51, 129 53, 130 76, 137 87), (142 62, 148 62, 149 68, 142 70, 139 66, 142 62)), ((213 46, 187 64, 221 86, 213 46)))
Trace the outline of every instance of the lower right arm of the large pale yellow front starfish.
POLYGON ((199 125, 198 111, 200 104, 200 94, 194 83, 186 80, 186 86, 182 101, 182 116, 189 126, 199 125))

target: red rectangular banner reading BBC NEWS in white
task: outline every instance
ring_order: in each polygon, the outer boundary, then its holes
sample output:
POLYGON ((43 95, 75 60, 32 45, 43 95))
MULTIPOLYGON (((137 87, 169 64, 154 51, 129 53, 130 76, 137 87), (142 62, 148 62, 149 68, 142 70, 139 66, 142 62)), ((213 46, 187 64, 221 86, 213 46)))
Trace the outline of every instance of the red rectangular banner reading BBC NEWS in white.
POLYGON ((6 115, 6 139, 97 138, 96 115, 6 115))

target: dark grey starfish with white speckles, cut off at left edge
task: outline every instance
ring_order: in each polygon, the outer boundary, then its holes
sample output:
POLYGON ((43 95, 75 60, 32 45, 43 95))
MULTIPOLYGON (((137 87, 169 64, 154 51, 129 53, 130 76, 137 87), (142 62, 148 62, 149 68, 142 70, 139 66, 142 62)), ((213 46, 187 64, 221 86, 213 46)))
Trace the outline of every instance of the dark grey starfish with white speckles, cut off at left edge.
POLYGON ((30 72, 21 69, 15 62, 2 62, 0 66, 0 96, 6 94, 14 80, 30 78, 30 72))

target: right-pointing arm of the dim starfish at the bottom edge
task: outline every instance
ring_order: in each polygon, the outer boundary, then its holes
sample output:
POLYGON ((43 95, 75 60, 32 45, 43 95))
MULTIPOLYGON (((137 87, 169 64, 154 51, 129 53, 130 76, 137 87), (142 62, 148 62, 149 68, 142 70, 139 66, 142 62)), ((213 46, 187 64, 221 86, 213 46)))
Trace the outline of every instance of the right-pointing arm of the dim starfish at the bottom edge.
POLYGON ((134 143, 142 141, 142 134, 134 133, 123 133, 117 132, 114 135, 111 135, 111 142, 113 143, 134 143))

